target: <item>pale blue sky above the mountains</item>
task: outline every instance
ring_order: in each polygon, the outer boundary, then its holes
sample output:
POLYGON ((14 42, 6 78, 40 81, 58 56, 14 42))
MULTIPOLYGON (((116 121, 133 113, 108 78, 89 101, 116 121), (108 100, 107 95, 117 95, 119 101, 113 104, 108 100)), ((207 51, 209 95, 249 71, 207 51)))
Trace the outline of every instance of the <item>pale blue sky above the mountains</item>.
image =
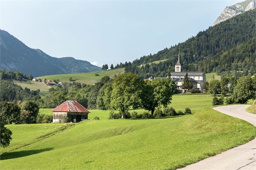
POLYGON ((207 29, 243 0, 1 0, 0 29, 52 57, 133 61, 207 29))

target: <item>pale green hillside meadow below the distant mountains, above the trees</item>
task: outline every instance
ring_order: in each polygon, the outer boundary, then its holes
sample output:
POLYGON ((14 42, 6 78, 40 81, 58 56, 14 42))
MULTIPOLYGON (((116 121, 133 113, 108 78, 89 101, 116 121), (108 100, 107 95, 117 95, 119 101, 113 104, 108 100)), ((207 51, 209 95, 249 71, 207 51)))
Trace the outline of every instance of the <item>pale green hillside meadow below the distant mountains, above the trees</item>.
POLYGON ((99 72, 90 72, 90 73, 77 73, 77 74, 56 74, 50 76, 40 76, 38 78, 48 79, 48 80, 60 80, 64 82, 69 82, 69 78, 72 77, 76 82, 81 82, 84 84, 94 84, 98 82, 102 77, 109 76, 113 78, 116 74, 117 76, 124 73, 124 68, 107 70, 107 71, 99 71, 99 72), (99 74, 99 76, 95 76, 95 74, 99 74))

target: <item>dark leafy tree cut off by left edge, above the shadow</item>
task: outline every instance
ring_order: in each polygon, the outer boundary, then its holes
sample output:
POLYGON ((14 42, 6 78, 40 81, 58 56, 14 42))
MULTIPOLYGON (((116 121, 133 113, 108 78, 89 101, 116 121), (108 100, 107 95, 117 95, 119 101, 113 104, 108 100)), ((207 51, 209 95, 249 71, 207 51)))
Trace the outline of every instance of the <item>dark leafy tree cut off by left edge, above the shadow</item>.
POLYGON ((12 139, 12 131, 4 126, 4 122, 0 122, 0 146, 7 147, 12 139))

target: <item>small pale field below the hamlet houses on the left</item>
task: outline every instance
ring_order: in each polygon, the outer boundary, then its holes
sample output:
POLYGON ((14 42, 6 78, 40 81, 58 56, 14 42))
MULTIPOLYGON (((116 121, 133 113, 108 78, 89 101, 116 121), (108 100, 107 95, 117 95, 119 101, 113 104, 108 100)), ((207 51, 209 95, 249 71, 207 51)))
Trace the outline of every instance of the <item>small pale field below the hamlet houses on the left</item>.
POLYGON ((45 94, 48 93, 49 86, 46 86, 46 84, 42 83, 42 82, 33 82, 31 80, 27 80, 26 82, 21 82, 21 81, 17 81, 17 80, 12 80, 12 82, 14 82, 15 84, 17 84, 18 86, 21 86, 22 88, 29 88, 30 90, 37 90, 40 89, 40 94, 42 96, 45 96, 45 94))

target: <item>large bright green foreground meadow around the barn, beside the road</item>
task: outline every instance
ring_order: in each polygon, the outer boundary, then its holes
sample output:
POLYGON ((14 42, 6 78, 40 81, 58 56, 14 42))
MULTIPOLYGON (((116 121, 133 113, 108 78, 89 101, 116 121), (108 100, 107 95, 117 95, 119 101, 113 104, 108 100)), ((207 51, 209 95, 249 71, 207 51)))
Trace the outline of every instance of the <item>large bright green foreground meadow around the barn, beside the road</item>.
POLYGON ((6 125, 13 140, 1 150, 1 169, 175 169, 254 138, 255 127, 214 111, 211 102, 208 95, 178 94, 170 105, 193 115, 109 120, 109 111, 90 110, 88 121, 64 130, 52 123, 6 125), (10 150, 24 143, 30 144, 10 150))

